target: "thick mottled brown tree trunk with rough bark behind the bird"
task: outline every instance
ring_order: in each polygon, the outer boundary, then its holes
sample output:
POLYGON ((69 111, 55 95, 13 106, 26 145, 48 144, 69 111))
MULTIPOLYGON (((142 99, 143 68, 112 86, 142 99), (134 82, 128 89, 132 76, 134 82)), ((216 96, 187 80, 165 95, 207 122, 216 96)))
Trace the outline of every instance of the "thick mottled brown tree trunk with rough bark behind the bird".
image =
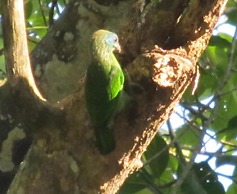
POLYGON ((40 90, 64 114, 47 110, 50 119, 40 114, 29 126, 34 141, 8 193, 116 193, 142 166, 146 147, 195 82, 196 61, 225 3, 71 2, 31 56, 40 90), (99 28, 119 35, 118 59, 139 84, 131 92, 134 105, 116 117, 117 146, 107 156, 94 145, 83 90, 89 40, 99 28))

